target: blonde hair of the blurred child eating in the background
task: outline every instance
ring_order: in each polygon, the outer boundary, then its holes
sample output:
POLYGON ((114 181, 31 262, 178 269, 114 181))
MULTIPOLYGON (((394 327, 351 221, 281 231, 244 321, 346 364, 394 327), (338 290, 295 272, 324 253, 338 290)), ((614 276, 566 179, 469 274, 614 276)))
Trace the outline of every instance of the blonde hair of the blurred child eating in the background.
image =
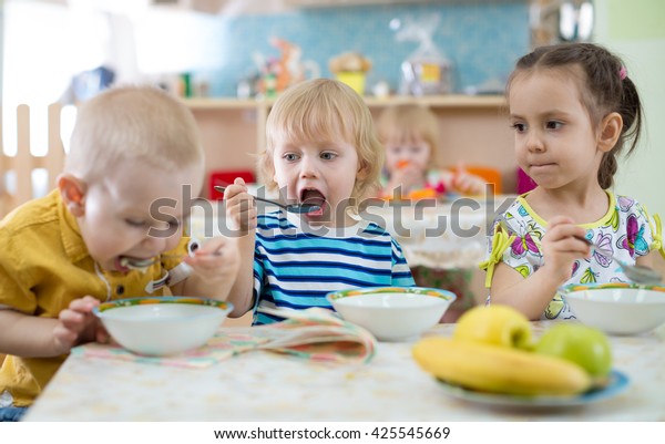
POLYGON ((430 146, 430 165, 436 167, 439 122, 427 106, 418 104, 389 106, 379 115, 377 131, 383 145, 427 142, 430 146))

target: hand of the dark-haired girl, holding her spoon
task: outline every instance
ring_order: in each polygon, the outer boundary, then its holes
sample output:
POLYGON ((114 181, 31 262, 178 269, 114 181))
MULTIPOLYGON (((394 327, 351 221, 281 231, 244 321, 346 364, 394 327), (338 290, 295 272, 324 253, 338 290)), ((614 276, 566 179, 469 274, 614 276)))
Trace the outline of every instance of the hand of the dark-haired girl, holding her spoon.
POLYGON ((575 260, 591 255, 589 245, 575 238, 583 238, 585 234, 585 229, 576 226, 570 217, 553 217, 541 242, 545 261, 543 268, 562 281, 570 279, 575 260))

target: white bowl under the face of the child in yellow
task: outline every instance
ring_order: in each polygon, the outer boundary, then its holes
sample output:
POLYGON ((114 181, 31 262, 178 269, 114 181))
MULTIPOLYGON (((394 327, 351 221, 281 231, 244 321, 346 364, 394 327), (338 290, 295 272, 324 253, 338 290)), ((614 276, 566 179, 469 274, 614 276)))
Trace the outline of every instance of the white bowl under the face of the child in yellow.
POLYGON ((119 299, 101 303, 93 312, 125 349, 167 355, 205 344, 232 309, 229 302, 170 296, 119 299))

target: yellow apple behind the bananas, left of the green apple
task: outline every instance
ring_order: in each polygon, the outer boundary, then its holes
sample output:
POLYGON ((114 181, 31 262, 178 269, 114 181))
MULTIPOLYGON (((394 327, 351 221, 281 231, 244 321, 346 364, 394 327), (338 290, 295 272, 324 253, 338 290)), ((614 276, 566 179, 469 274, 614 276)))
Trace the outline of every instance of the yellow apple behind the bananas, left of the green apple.
POLYGON ((508 306, 477 306, 460 317, 453 338, 516 349, 529 349, 531 323, 520 311, 508 306))

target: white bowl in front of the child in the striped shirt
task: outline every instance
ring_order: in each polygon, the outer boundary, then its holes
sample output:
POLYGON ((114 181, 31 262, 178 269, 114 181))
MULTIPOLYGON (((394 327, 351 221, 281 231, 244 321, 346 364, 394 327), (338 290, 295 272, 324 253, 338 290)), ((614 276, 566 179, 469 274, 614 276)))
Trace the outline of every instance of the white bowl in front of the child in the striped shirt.
POLYGON ((436 326, 456 300, 453 292, 422 287, 377 287, 330 292, 341 317, 380 341, 411 341, 436 326))

